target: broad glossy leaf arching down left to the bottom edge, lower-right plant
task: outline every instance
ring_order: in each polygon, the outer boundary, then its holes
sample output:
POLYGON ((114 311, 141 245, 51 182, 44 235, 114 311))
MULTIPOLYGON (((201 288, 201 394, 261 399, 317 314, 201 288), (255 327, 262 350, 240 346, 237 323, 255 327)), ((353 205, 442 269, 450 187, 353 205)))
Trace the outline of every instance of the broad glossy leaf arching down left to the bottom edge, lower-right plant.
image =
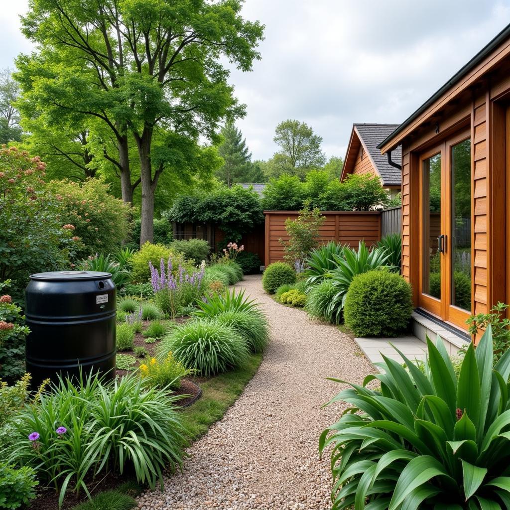
POLYGON ((443 465, 435 458, 430 455, 413 458, 398 478, 389 510, 397 510, 407 496, 435 476, 448 476, 443 465))

